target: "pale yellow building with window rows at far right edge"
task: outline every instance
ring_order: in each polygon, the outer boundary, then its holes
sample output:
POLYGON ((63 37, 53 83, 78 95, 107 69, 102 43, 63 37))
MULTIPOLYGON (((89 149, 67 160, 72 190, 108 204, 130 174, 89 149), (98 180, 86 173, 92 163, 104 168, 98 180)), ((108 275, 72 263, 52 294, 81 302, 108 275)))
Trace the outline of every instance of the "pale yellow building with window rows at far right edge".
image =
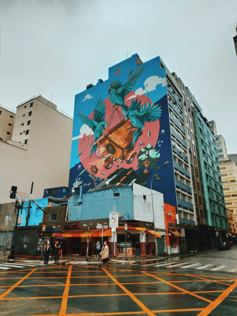
POLYGON ((237 217, 237 167, 232 160, 221 161, 220 171, 226 207, 237 217))

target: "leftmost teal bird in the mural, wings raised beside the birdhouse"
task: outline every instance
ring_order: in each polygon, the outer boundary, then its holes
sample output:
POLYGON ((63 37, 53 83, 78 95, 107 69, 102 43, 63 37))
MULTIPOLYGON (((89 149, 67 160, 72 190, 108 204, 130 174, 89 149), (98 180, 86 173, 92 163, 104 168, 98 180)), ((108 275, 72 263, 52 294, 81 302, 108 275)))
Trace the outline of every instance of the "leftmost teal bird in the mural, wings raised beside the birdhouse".
MULTIPOLYGON (((94 143, 100 138, 100 136, 103 134, 103 131, 106 128, 107 122, 104 120, 105 112, 105 102, 103 102, 103 100, 100 98, 100 100, 97 99, 97 102, 95 102, 93 119, 88 118, 88 116, 86 116, 80 111, 77 113, 82 123, 88 125, 89 128, 92 129, 92 131, 94 132, 94 143)), ((93 151, 95 153, 97 146, 97 143, 91 146, 90 156, 92 155, 93 151)))

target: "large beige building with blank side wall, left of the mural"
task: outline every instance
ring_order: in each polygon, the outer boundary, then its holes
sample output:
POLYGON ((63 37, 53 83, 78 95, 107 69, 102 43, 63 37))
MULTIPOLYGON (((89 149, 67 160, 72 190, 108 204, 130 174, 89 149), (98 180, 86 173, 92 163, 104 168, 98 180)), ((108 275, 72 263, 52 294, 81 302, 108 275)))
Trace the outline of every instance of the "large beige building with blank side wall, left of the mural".
MULTIPOLYGON (((3 112, 2 112, 3 113, 3 112)), ((33 97, 19 106, 11 140, 0 142, 0 203, 12 185, 35 198, 44 188, 68 186, 73 119, 45 98, 33 97)))

